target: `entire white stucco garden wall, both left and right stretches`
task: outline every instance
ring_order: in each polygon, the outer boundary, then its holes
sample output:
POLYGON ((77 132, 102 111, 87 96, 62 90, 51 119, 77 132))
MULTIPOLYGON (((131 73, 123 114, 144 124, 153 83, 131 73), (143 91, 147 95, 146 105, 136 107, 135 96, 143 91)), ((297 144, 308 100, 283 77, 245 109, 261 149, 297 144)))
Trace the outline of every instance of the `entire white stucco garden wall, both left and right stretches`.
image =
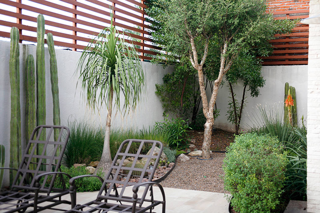
MULTIPOLYGON (((0 41, 0 143, 6 146, 6 162, 5 166, 9 166, 8 156, 10 156, 10 79, 9 79, 9 52, 10 42, 0 41)), ((23 58, 28 54, 36 56, 36 46, 34 45, 20 45, 20 71, 24 67, 23 58)), ((76 88, 78 76, 75 74, 76 63, 80 57, 80 52, 69 50, 56 49, 56 56, 58 61, 58 78, 59 78, 59 98, 60 98, 60 117, 61 124, 67 126, 69 118, 76 118, 77 120, 85 119, 96 125, 105 125, 106 109, 102 108, 100 113, 92 112, 89 109, 83 97, 80 95, 81 88, 76 88)), ((51 82, 49 72, 49 52, 45 49, 46 61, 46 111, 47 124, 52 124, 52 94, 51 82)), ((155 95, 155 84, 162 83, 162 78, 165 73, 171 72, 172 67, 164 69, 161 65, 153 65, 151 63, 143 62, 143 70, 146 73, 147 93, 143 95, 143 102, 138 105, 135 113, 130 113, 125 118, 121 118, 120 114, 112 120, 112 127, 120 128, 135 128, 153 126, 155 121, 163 119, 162 104, 159 98, 155 95)), ((297 93, 297 111, 298 118, 302 115, 306 117, 307 114, 307 66, 265 66, 263 67, 263 76, 266 79, 266 85, 261 91, 258 98, 251 98, 248 94, 247 106, 244 109, 242 118, 242 128, 249 129, 250 120, 248 115, 257 112, 257 104, 273 105, 278 104, 282 107, 284 101, 284 83, 289 82, 291 86, 296 88, 297 93)), ((25 94, 23 86, 23 74, 20 75, 21 85, 21 115, 24 115, 25 94)), ((242 87, 239 85, 235 88, 238 96, 241 96, 242 87), (240 91, 240 92, 238 92, 240 91)), ((217 107, 220 109, 220 116, 215 121, 215 127, 225 130, 233 131, 234 125, 227 121, 226 111, 228 109, 229 97, 228 85, 225 84, 219 89, 217 98, 217 107)), ((209 97, 210 98, 210 97, 209 97)), ((282 109, 282 108, 281 108, 282 109)), ((115 111, 113 111, 115 114, 115 111)), ((24 116, 21 116, 21 123, 24 124, 24 116)), ((24 125, 22 125, 22 132, 24 132, 24 125)), ((22 145, 25 144, 24 135, 22 135, 22 145)), ((8 173, 5 174, 5 184, 8 183, 8 173)))

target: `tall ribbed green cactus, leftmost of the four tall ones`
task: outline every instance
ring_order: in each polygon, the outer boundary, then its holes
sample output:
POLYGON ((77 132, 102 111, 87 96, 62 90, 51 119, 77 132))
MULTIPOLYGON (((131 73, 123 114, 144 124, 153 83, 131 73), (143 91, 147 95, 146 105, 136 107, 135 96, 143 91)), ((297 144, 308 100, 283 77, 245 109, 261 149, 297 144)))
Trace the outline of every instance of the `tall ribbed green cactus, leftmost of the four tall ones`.
MULTIPOLYGON (((11 28, 10 33, 10 86, 11 86, 11 119, 10 119, 10 167, 18 168, 21 156, 21 115, 20 115, 20 70, 19 70, 19 29, 11 28)), ((10 181, 14 174, 10 170, 10 181)))

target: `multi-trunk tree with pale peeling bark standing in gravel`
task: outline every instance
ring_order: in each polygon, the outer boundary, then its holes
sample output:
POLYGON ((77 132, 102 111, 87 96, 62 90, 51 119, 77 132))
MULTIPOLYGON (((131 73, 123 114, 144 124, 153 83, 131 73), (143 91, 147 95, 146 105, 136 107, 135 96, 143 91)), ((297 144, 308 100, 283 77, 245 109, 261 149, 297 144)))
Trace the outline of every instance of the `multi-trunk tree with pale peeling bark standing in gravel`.
MULTIPOLYGON (((248 52, 274 38, 288 33, 294 21, 275 20, 267 13, 266 0, 159 0, 150 1, 156 11, 154 21, 158 41, 166 41, 164 50, 186 56, 198 73, 204 124, 203 158, 210 157, 214 105, 224 75, 241 52, 248 52), (161 24, 159 24, 161 23, 161 24), (204 86, 204 65, 210 45, 220 51, 219 74, 212 94, 204 86), (208 98, 209 96, 209 98, 208 98)), ((264 49, 261 49, 263 52, 264 49)))

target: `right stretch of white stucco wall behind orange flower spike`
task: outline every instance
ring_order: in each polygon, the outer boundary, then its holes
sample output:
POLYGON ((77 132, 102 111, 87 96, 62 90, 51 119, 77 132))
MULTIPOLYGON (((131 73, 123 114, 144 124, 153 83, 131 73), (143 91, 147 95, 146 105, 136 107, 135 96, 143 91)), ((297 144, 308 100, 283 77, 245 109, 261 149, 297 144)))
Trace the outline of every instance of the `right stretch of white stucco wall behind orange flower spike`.
MULTIPOLYGON (((262 106, 267 106, 267 110, 269 109, 269 106, 272 105, 283 110, 285 82, 288 82, 290 86, 293 86, 296 89, 298 122, 302 115, 306 118, 307 74, 307 65, 263 66, 262 75, 266 80, 266 84, 260 89, 260 95, 258 97, 251 97, 250 92, 246 93, 246 101, 248 103, 243 111, 240 128, 248 130, 250 127, 253 127, 251 122, 251 120, 253 120, 252 116, 259 115, 257 106, 260 104, 262 106)), ((237 94, 236 97, 241 101, 243 91, 242 83, 239 83, 234 90, 237 94)), ((234 131, 235 126, 227 121, 228 116, 226 116, 228 110, 228 97, 230 96, 228 82, 225 82, 225 84, 219 88, 217 108, 220 109, 220 116, 214 122, 214 127, 234 131)))

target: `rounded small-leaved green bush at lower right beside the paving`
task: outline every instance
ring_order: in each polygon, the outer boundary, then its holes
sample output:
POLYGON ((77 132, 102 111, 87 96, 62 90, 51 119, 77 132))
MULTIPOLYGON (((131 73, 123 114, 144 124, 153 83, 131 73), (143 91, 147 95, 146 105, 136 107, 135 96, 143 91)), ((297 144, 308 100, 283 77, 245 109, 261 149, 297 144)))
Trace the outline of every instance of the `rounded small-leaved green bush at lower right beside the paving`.
POLYGON ((241 213, 270 212, 279 204, 288 164, 284 146, 276 137, 237 135, 227 148, 223 170, 231 205, 241 213), (230 198, 231 199, 231 198, 230 198))

